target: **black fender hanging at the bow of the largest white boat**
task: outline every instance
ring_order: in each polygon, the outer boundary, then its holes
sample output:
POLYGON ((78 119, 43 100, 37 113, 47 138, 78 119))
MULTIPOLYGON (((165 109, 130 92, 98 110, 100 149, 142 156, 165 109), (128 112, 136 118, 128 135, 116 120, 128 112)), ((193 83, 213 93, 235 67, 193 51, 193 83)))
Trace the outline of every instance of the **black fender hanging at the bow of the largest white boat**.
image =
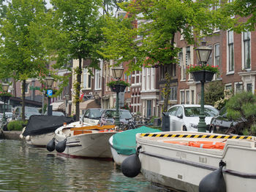
POLYGON ((121 164, 121 172, 126 177, 136 177, 140 173, 141 164, 140 164, 140 153, 141 146, 136 150, 135 154, 130 155, 128 158, 124 159, 121 164))

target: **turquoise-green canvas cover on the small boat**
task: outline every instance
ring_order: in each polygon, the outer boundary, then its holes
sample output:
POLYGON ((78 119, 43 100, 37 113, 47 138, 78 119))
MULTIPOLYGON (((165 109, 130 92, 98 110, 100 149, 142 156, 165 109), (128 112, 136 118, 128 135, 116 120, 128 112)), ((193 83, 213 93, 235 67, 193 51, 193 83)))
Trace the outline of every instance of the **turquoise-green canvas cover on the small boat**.
POLYGON ((132 155, 136 152, 136 134, 161 132, 159 129, 141 126, 113 135, 113 148, 118 154, 132 155))

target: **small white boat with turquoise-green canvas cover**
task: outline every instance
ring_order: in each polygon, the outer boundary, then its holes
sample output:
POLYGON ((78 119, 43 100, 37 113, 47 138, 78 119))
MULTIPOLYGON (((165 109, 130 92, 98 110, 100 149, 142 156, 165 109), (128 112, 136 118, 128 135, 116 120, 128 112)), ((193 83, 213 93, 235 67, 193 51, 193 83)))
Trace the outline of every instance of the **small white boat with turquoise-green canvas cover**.
POLYGON ((127 131, 122 131, 110 137, 110 149, 113 160, 121 165, 125 158, 136 152, 136 134, 159 132, 158 129, 141 126, 127 131))

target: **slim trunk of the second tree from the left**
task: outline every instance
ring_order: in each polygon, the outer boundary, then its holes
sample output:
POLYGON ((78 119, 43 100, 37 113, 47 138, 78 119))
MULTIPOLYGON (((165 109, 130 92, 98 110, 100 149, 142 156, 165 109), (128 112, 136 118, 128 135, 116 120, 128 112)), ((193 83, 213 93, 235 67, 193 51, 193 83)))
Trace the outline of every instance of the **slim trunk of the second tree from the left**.
POLYGON ((75 120, 78 121, 80 117, 80 89, 81 89, 81 74, 82 74, 82 58, 79 58, 79 66, 77 70, 77 85, 75 86, 75 120))

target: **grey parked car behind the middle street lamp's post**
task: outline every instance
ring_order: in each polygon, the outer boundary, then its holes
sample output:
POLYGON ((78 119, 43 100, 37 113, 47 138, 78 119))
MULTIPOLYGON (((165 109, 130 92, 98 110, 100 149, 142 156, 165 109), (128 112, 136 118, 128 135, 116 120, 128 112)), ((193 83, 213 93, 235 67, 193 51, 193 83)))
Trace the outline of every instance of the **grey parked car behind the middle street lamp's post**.
MULTIPOLYGON (((114 117, 116 115, 115 109, 105 110, 102 113, 102 117, 99 120, 99 125, 113 125, 115 120, 114 117)), ((132 118, 131 112, 129 110, 119 110, 120 123, 127 124, 128 119, 132 118)))

